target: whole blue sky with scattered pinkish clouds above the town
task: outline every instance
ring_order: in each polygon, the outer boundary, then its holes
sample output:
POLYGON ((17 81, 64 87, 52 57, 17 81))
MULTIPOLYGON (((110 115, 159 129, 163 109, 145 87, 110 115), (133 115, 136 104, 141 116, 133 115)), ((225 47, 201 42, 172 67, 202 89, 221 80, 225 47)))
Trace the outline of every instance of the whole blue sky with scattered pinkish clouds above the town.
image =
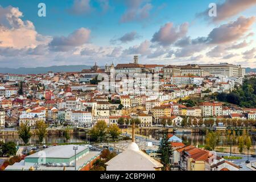
POLYGON ((0 0, 0 67, 131 63, 138 55, 142 64, 256 68, 255 22, 256 0, 0 0))

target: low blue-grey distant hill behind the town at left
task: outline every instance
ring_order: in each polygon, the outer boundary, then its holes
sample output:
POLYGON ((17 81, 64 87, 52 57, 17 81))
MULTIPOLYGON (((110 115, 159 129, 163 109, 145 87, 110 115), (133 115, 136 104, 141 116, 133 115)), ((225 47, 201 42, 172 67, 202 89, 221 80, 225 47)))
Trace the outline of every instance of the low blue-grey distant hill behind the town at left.
POLYGON ((36 68, 0 68, 0 73, 11 74, 39 74, 52 71, 56 72, 80 72, 82 69, 90 69, 90 65, 62 65, 52 67, 36 67, 36 68))

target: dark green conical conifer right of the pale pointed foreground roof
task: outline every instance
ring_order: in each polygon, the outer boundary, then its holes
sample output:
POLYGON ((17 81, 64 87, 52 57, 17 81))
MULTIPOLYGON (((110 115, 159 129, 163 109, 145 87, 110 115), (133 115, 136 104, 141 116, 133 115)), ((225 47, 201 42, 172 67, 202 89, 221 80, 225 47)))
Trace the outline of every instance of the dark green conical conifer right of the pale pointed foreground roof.
POLYGON ((160 141, 160 146, 158 148, 157 154, 164 166, 164 170, 168 169, 170 166, 170 158, 172 156, 173 150, 170 142, 168 142, 168 137, 166 134, 163 135, 160 141))

